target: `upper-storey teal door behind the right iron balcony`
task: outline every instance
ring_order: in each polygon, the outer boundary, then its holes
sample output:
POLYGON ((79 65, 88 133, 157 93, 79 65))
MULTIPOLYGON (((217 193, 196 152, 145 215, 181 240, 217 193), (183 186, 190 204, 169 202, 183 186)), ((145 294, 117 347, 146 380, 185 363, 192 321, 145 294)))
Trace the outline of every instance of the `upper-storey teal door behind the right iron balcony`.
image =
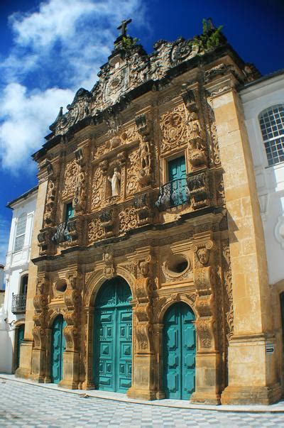
POLYGON ((187 202, 187 183, 185 156, 180 156, 168 162, 168 175, 170 185, 170 200, 173 207, 187 202))

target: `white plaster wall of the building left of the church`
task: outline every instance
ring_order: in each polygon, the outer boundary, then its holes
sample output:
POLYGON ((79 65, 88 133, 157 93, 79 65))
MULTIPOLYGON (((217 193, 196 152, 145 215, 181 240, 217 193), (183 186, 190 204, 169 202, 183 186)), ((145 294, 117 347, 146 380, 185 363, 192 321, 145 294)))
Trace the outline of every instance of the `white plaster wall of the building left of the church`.
POLYGON ((21 277, 28 273, 36 197, 37 192, 34 192, 26 199, 21 199, 13 204, 9 246, 4 268, 5 298, 4 304, 0 307, 0 372, 4 373, 11 373, 12 371, 15 324, 21 324, 25 320, 25 314, 13 314, 11 312, 11 305, 12 295, 20 293, 21 277), (16 224, 18 217, 24 212, 27 214, 27 221, 23 249, 14 253, 16 224))

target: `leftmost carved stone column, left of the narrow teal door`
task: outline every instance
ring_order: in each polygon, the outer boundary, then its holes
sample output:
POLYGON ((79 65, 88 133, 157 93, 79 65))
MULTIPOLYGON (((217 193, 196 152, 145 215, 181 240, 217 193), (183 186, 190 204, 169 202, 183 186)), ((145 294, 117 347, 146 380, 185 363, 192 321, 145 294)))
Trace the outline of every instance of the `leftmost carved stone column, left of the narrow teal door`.
POLYGON ((36 294, 33 297, 35 314, 33 321, 33 339, 34 346, 31 361, 31 378, 38 383, 45 382, 49 375, 46 373, 46 348, 47 348, 47 328, 48 328, 48 292, 49 283, 45 276, 38 278, 36 294))

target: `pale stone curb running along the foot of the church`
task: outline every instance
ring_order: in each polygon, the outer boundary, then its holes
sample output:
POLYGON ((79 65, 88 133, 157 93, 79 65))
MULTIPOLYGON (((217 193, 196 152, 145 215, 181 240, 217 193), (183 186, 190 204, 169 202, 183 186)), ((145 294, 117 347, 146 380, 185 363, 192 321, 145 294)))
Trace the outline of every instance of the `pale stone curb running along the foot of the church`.
MULTIPOLYGON (((146 401, 146 400, 135 400, 133 398, 129 397, 109 397, 107 395, 101 395, 96 393, 96 390, 68 390, 66 388, 60 388, 58 386, 51 386, 55 384, 48 384, 48 383, 34 383, 31 380, 16 378, 14 375, 5 375, 4 373, 0 373, 0 380, 11 380, 11 382, 18 382, 23 383, 25 385, 31 385, 31 386, 38 386, 40 388, 45 388, 48 390, 57 391, 58 393, 69 393, 73 395, 79 395, 86 398, 98 398, 99 400, 109 400, 114 402, 126 402, 129 404, 136 404, 136 405, 150 405, 150 406, 156 406, 156 407, 172 407, 175 409, 182 409, 182 410, 209 410, 214 412, 236 412, 236 413, 284 413, 284 402, 281 401, 281 407, 276 407, 277 404, 274 405, 262 405, 262 406, 244 406, 244 405, 197 405, 197 404, 190 404, 190 402, 187 401, 183 403, 177 402, 165 402, 166 400, 153 400, 153 401, 146 401), (13 376, 13 377, 12 377, 13 376), (274 408, 272 406, 275 406, 274 408)), ((173 401, 173 400, 171 400, 173 401)))

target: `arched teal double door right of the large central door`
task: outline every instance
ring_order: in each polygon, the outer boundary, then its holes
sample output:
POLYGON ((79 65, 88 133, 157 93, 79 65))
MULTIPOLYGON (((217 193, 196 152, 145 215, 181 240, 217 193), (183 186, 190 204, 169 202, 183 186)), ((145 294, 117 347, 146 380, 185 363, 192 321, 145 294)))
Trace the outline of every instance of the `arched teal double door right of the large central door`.
POLYGON ((163 365, 165 397, 188 400, 195 390, 195 315, 185 303, 165 313, 163 365))

